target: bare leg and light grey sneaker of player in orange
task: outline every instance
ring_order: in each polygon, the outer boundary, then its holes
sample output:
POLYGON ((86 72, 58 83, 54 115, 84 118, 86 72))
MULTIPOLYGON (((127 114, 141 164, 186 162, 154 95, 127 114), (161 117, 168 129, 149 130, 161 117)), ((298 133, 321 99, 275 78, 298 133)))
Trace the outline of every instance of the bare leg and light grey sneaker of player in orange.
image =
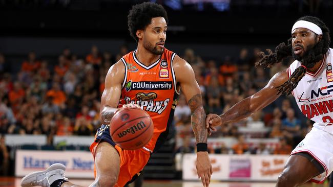
MULTIPOLYGON (((120 157, 117 150, 107 142, 99 143, 95 151, 96 179, 90 186, 114 186, 117 182, 120 168, 120 157)), ((26 175, 21 185, 23 187, 78 187, 71 182, 64 182, 65 166, 56 163, 41 172, 26 175)))

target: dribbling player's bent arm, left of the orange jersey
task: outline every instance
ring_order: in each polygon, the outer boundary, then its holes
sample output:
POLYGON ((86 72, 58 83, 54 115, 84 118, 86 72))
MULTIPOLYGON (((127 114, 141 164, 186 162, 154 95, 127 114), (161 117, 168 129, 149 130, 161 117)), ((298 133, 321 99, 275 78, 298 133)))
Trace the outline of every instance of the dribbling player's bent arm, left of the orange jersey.
POLYGON ((125 66, 121 60, 112 65, 105 78, 105 88, 101 97, 100 116, 102 123, 110 124, 117 110, 121 95, 125 66))

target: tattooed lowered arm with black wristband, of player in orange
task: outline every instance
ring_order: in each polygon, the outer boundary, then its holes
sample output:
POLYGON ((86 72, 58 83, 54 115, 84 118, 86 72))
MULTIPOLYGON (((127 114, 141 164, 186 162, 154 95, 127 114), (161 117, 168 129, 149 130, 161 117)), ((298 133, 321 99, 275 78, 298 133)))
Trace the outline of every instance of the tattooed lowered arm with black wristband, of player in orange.
POLYGON ((185 60, 176 55, 173 67, 176 80, 180 83, 181 90, 191 109, 191 124, 197 145, 205 146, 205 148, 197 147, 196 169, 198 177, 201 178, 203 186, 209 186, 213 171, 208 152, 204 150, 206 149, 208 131, 204 124, 206 115, 202 106, 200 87, 195 80, 191 65, 185 60))

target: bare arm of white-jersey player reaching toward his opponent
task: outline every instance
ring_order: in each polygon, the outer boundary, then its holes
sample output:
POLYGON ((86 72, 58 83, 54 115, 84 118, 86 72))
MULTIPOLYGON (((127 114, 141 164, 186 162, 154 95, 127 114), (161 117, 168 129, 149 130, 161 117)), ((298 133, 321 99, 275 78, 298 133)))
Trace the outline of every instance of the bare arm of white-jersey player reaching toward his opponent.
POLYGON ((206 127, 211 127, 212 130, 215 131, 215 126, 222 125, 222 123, 227 124, 243 120, 252 113, 275 101, 281 95, 278 95, 276 87, 282 85, 289 79, 287 70, 288 69, 285 69, 275 74, 264 88, 256 92, 254 95, 236 103, 225 113, 222 113, 221 115, 208 114, 205 122, 206 127))

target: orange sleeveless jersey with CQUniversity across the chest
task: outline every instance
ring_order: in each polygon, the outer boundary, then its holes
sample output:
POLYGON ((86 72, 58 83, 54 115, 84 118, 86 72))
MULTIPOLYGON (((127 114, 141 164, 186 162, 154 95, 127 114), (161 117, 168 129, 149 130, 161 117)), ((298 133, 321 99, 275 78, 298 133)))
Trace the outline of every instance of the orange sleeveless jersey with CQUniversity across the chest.
POLYGON ((144 149, 153 151, 160 147, 169 133, 177 105, 179 91, 172 68, 175 53, 164 48, 160 58, 145 66, 135 56, 135 51, 123 56, 126 66, 119 107, 123 104, 138 104, 148 112, 154 122, 154 134, 144 149))

